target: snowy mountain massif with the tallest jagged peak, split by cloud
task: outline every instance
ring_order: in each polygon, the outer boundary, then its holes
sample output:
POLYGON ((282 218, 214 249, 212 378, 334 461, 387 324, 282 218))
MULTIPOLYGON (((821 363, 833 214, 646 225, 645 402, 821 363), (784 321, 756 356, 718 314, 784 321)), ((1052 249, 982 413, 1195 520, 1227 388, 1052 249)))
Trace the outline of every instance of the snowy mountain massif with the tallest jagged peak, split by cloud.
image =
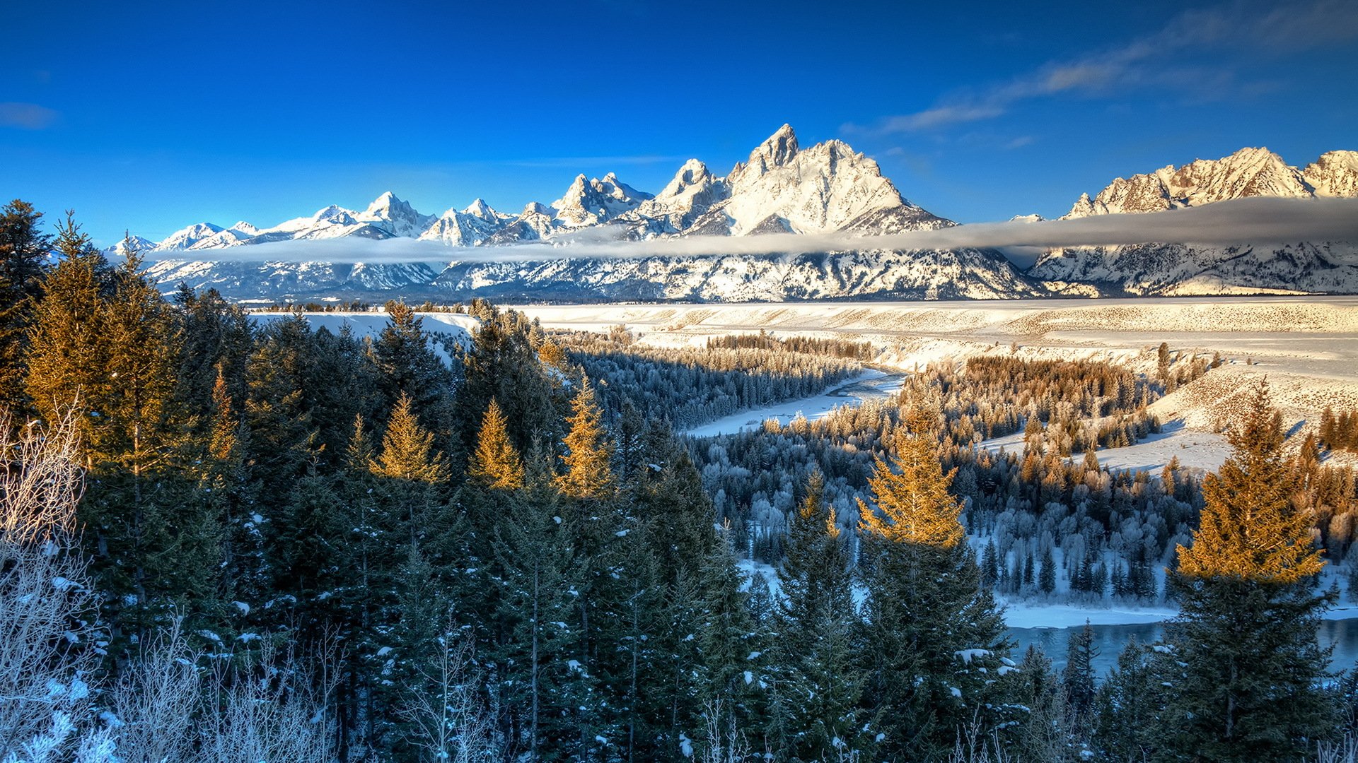
POLYGON ((401 265, 251 262, 240 248, 212 262, 201 251, 345 236, 496 247, 588 229, 606 238, 653 239, 875 234, 953 224, 902 197, 876 162, 849 145, 832 140, 801 148, 793 129, 784 125, 728 174, 718 176, 693 159, 657 194, 637 190, 611 172, 592 179, 579 175, 561 198, 550 205, 531 202, 519 215, 496 212, 477 200, 433 217, 386 193, 364 212, 327 206, 253 234, 239 224, 227 236, 210 224, 185 228, 153 246, 151 272, 167 288, 186 282, 270 301, 394 295, 437 300, 474 295, 505 300, 1004 299, 1050 292, 998 251, 976 248, 543 262, 459 261, 451 251, 451 262, 401 265), (193 258, 175 255, 189 250, 193 258))

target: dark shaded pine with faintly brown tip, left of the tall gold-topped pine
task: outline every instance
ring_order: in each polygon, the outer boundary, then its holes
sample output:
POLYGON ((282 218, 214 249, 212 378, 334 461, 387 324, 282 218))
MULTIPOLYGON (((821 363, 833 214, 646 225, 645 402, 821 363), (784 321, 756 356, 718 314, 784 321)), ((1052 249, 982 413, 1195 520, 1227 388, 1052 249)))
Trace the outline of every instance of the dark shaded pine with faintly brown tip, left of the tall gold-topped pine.
POLYGON ((784 597, 775 661, 784 668, 778 691, 786 707, 777 720, 778 747, 788 760, 827 760, 856 748, 862 676, 849 554, 834 509, 824 505, 819 471, 792 515, 778 580, 784 597))

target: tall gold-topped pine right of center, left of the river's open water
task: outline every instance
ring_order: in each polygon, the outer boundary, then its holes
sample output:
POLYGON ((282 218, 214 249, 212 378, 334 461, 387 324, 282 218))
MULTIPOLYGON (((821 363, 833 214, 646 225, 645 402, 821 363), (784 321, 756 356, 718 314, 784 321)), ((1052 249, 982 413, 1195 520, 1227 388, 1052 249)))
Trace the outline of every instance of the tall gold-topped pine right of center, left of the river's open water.
POLYGON ((865 695, 884 758, 937 760, 959 729, 999 722, 991 702, 1009 652, 1004 619, 980 585, 974 554, 934 455, 930 417, 914 410, 896 439, 896 474, 877 460, 869 478, 876 506, 860 501, 864 540, 865 695))

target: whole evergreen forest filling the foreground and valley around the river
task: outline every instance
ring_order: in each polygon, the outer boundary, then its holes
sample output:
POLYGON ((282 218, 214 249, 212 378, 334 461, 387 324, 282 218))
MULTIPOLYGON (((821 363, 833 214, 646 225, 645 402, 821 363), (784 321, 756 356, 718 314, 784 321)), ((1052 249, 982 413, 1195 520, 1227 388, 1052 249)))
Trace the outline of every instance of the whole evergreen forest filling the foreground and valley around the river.
POLYGON ((39 223, 0 215, 0 762, 1354 759, 1315 585, 1353 472, 1266 386, 1215 474, 1099 463, 1205 358, 936 364, 699 440, 870 348, 483 300, 469 337, 402 303, 357 337, 39 223), (1183 614, 1058 673, 995 592, 1183 614))

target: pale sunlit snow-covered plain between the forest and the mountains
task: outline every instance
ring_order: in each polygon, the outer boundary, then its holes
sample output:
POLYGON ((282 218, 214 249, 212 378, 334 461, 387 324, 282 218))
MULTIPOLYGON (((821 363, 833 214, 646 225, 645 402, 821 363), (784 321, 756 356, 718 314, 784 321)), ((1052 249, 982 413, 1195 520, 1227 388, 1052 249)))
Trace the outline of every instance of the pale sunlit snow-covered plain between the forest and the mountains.
MULTIPOLYGON (((1358 409, 1358 297, 1142 297, 936 303, 751 303, 526 305, 543 326, 626 326, 641 342, 702 345, 710 337, 846 337, 877 348, 875 365, 913 371, 933 361, 1014 354, 1029 360, 1107 360, 1154 372, 1156 348, 1224 365, 1156 402, 1167 433, 1100 451, 1119 468, 1157 468, 1177 455, 1198 468, 1225 458, 1229 426, 1266 376, 1289 430, 1315 426, 1327 406, 1358 409)), ((779 406, 786 407, 786 406, 779 406)), ((811 415, 809 406, 803 413, 811 415)), ((739 414, 740 424, 755 413, 739 414)), ((762 421, 762 420, 759 420, 762 421)), ((1001 443, 997 443, 1001 444, 1001 443)))

